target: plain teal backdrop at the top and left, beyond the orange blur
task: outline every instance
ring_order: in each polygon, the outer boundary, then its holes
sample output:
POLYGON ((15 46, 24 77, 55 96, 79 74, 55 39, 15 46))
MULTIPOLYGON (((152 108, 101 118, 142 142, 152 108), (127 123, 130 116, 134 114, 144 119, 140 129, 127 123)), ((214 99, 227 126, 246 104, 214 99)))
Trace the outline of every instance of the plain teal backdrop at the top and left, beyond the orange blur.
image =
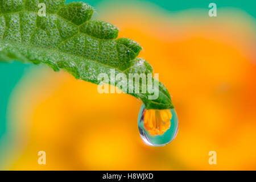
MULTIPOLYGON (((130 1, 130 0, 119 0, 119 1, 130 1)), ((139 0, 133 0, 139 1, 139 0)), ((72 2, 72 1, 66 1, 72 2)), ((100 0, 86 0, 84 1, 89 5, 92 5, 97 8, 97 3, 101 2, 100 0)), ((162 7, 168 11, 180 11, 186 9, 193 9, 193 8, 204 8, 208 9, 208 5, 211 2, 216 3, 217 8, 220 7, 234 7, 237 9, 241 9, 246 13, 250 14, 254 18, 256 17, 256 1, 255 0, 244 0, 244 1, 227 1, 227 0, 219 0, 219 1, 173 1, 173 0, 140 0, 139 2, 152 2, 155 5, 162 7)), ((18 83, 19 79, 22 75, 27 72, 34 65, 30 64, 22 64, 17 61, 13 63, 1 63, 0 64, 0 78, 1 78, 1 89, 0 89, 0 140, 6 132, 6 112, 7 112, 7 105, 9 102, 9 97, 14 89, 15 85, 18 83)))

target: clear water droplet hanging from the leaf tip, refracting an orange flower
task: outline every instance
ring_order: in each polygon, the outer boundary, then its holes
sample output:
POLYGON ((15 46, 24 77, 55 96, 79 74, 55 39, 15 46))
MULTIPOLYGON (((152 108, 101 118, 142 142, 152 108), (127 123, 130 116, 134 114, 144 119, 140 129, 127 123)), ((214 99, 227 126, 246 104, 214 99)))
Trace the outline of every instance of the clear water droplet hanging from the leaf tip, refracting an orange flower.
POLYGON ((138 127, 139 134, 144 143, 150 146, 164 146, 174 140, 177 135, 178 119, 176 111, 175 109, 146 110, 145 105, 143 104, 141 106, 141 111, 139 111, 138 127), (147 115, 145 118, 146 113, 147 115), (163 121, 162 118, 166 117, 171 119, 163 121), (151 123, 148 121, 151 121, 151 123))

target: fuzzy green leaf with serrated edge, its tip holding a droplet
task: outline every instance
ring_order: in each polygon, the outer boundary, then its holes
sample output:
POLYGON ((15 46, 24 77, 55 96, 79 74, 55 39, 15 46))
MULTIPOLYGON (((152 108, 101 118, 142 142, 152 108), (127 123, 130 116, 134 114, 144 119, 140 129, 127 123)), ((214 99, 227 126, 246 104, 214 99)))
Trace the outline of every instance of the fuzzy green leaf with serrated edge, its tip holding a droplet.
MULTIPOLYGON (((100 73, 110 76, 112 69, 115 75, 125 73, 127 77, 129 73, 152 74, 150 64, 137 58, 142 49, 138 43, 117 39, 118 28, 90 20, 92 15, 92 7, 81 2, 1 0, 0 61, 44 63, 54 71, 65 69, 77 79, 95 84, 100 84, 100 73), (38 15, 39 3, 45 3, 46 16, 38 15)), ((141 90, 143 83, 139 84, 141 90)), ((148 99, 148 92, 129 94, 140 98, 146 109, 173 108, 170 94, 161 83, 155 100, 148 99)))

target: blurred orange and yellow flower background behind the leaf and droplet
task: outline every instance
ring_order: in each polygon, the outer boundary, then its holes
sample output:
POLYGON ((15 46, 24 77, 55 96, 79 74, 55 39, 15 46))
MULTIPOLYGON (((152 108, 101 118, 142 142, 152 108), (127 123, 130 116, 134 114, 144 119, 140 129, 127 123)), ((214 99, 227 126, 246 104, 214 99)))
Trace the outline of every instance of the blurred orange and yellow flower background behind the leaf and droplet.
MULTIPOLYGON (((206 7, 207 8, 207 7, 206 7)), ((12 170, 255 170, 255 19, 239 9, 169 12, 150 3, 101 2, 97 18, 143 47, 179 118, 176 139, 146 146, 142 102, 99 94, 46 66, 27 69, 13 90, 0 168, 12 170), (47 164, 38 164, 38 151, 47 164), (217 164, 208 163, 216 151, 217 164), (4 156, 4 157, 3 157, 4 156)), ((1 158, 0 156, 0 158, 1 158)))

